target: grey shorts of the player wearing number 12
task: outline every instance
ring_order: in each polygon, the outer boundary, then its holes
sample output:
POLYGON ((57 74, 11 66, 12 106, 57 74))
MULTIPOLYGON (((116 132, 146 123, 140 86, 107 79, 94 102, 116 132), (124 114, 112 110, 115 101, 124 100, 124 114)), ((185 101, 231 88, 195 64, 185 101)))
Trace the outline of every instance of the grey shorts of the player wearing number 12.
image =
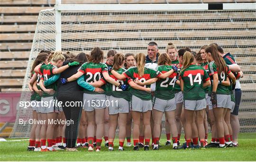
POLYGON ((110 96, 109 114, 129 113, 129 102, 123 98, 110 96), (112 102, 113 101, 113 102, 112 102), (113 103, 113 104, 112 104, 113 103))

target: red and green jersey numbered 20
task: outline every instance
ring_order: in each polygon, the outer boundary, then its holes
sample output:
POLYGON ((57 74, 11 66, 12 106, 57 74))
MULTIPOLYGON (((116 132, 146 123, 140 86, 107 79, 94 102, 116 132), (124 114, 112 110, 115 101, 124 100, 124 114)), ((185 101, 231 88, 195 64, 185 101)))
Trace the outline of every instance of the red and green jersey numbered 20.
MULTIPOLYGON (((105 63, 83 63, 82 66, 78 69, 79 72, 84 73, 84 80, 86 82, 95 82, 95 81, 103 81, 103 72, 108 72, 108 66, 105 63)), ((101 94, 98 92, 92 92, 89 90, 84 90, 84 93, 88 94, 101 94)))

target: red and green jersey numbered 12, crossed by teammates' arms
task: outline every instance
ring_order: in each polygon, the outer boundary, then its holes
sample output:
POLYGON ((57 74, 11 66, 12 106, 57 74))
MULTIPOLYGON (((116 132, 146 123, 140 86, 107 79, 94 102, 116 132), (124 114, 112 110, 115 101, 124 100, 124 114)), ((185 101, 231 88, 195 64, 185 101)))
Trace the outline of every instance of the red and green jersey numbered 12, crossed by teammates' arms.
MULTIPOLYGON (((118 72, 119 74, 122 74, 123 72, 125 72, 126 69, 124 68, 120 68, 118 69, 116 72, 118 72)), ((124 80, 118 80, 111 72, 109 72, 109 75, 111 78, 115 79, 115 81, 119 82, 120 84, 127 84, 128 85, 128 79, 124 79, 124 80)), ((116 98, 123 98, 126 99, 128 101, 131 100, 131 94, 129 91, 123 91, 121 89, 119 89, 117 86, 107 82, 106 83, 106 95, 110 96, 114 96, 116 98)))

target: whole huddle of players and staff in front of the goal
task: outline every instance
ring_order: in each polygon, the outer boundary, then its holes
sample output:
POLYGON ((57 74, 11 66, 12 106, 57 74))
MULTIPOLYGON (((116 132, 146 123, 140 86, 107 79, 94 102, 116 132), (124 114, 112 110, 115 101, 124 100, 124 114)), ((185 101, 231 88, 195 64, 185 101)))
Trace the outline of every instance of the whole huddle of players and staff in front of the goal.
POLYGON ((165 51, 160 54, 158 45, 150 42, 147 55, 110 50, 105 63, 99 47, 78 55, 41 51, 31 68, 30 100, 61 106, 32 107, 33 119, 73 124, 33 124, 28 150, 83 147, 100 152, 104 137, 105 146, 113 151, 117 126, 119 151, 124 151, 125 139, 126 146, 132 146, 131 132, 133 150, 149 150, 151 139, 152 149, 159 150, 164 113, 165 145, 171 145, 172 135, 174 150, 238 146, 239 128, 230 114, 238 115, 235 102, 240 99, 234 91, 240 90, 243 73, 233 56, 216 43, 202 46, 198 53, 189 47, 177 50, 169 43, 165 51))

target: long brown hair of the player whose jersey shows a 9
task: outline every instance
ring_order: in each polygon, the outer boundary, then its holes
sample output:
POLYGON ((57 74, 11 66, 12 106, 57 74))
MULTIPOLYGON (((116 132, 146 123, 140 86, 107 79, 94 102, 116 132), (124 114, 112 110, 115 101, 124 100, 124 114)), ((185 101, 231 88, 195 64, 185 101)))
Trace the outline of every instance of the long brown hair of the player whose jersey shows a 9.
POLYGON ((209 45, 206 49, 205 49, 206 53, 210 53, 214 63, 216 64, 217 68, 218 68, 218 74, 220 75, 221 72, 225 72, 227 73, 227 64, 225 62, 225 60, 218 54, 218 50, 217 50, 217 46, 212 44, 209 45))

